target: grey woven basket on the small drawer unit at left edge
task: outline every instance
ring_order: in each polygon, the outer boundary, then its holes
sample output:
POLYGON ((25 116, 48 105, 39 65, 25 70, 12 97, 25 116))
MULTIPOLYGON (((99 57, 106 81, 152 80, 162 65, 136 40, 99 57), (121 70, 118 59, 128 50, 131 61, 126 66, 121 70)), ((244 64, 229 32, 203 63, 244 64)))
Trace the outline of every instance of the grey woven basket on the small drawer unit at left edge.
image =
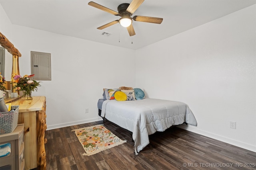
POLYGON ((12 133, 18 125, 19 106, 11 106, 11 110, 0 112, 0 135, 12 133))

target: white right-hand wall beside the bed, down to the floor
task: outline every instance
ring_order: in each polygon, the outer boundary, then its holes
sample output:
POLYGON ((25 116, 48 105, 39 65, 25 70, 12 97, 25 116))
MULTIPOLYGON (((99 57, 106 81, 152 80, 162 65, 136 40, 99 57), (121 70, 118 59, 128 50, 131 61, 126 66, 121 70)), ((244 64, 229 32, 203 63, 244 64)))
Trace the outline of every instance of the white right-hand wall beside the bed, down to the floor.
POLYGON ((256 151, 256 5, 136 51, 136 86, 182 101, 182 128, 256 151), (236 129, 230 129, 230 121, 236 129))

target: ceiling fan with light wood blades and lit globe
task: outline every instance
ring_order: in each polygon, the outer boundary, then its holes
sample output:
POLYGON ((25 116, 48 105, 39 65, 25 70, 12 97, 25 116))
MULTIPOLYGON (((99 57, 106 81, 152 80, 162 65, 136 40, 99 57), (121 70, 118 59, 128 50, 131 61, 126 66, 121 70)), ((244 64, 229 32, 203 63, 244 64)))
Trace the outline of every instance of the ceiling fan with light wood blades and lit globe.
POLYGON ((89 2, 88 5, 98 8, 100 10, 103 10, 105 12, 108 12, 110 14, 113 14, 115 16, 121 17, 119 20, 115 20, 115 21, 112 21, 105 25, 102 25, 102 26, 98 27, 97 29, 104 29, 104 28, 114 25, 116 23, 120 23, 123 27, 127 28, 129 35, 133 36, 133 35, 135 35, 135 31, 132 26, 132 19, 134 21, 158 23, 158 24, 162 23, 162 21, 163 21, 163 18, 147 17, 147 16, 133 16, 131 18, 132 14, 139 8, 139 6, 142 4, 142 2, 144 2, 144 0, 132 0, 132 2, 130 4, 127 4, 127 3, 120 4, 117 8, 118 12, 110 10, 109 8, 106 8, 100 4, 97 4, 92 1, 89 2))

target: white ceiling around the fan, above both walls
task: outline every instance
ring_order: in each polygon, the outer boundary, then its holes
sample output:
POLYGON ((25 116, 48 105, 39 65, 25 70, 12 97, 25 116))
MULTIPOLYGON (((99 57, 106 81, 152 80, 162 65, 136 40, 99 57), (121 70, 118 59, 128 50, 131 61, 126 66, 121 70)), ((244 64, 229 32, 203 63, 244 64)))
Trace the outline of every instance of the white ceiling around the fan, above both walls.
MULTIPOLYGON (((93 1, 117 12, 118 5, 132 0, 93 1)), ((161 24, 133 21, 136 35, 130 37, 119 24, 96 29, 120 17, 89 6, 88 2, 0 0, 13 24, 129 49, 139 49, 256 4, 256 0, 145 0, 133 16, 159 17, 163 21, 161 24), (104 31, 111 35, 101 35, 104 31)))

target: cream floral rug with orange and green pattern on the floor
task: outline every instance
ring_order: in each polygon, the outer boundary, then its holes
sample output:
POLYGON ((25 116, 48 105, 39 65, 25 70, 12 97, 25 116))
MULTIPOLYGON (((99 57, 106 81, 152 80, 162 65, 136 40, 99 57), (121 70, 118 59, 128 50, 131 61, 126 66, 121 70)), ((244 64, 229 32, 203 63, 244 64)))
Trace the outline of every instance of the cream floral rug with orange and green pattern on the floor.
POLYGON ((126 141, 122 141, 116 137, 116 135, 106 129, 103 125, 84 127, 72 131, 75 131, 76 137, 85 150, 83 155, 86 156, 126 143, 126 141))

